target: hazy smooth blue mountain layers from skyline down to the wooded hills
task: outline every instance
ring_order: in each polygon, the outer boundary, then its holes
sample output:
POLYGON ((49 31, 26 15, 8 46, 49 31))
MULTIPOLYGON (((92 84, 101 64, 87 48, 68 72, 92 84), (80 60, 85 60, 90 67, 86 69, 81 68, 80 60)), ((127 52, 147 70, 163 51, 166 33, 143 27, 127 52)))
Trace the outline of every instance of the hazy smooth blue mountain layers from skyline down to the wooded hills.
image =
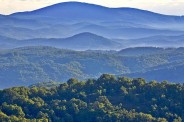
POLYGON ((172 47, 173 44, 174 47, 180 47, 183 45, 183 26, 183 16, 162 15, 135 8, 107 8, 64 2, 34 11, 1 15, 0 40, 6 39, 0 45, 4 45, 4 48, 37 44, 56 46, 57 41, 57 48, 73 50, 172 47), (96 41, 92 41, 95 38, 96 41), (89 43, 86 44, 87 41, 89 43), (80 46, 76 45, 75 48, 71 43, 80 46))

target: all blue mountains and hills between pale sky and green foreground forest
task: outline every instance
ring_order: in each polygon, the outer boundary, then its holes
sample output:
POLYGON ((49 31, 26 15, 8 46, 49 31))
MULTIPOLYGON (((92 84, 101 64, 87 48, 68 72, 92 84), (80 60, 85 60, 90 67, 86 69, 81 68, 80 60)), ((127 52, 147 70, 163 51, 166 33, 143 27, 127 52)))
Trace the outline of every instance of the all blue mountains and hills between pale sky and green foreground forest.
POLYGON ((184 16, 80 2, 0 15, 2 88, 103 73, 182 83, 183 27, 184 16))

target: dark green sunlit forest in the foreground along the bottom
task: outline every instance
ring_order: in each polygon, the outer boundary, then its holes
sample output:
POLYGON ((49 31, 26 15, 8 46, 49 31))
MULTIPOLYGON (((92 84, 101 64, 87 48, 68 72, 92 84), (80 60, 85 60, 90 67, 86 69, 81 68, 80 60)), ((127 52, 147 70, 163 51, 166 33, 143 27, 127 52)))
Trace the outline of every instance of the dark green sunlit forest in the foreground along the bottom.
MULTIPOLYGON (((43 85, 43 84, 42 84, 43 85)), ((182 122, 184 86, 103 74, 71 78, 56 87, 13 87, 0 91, 0 121, 182 122)))

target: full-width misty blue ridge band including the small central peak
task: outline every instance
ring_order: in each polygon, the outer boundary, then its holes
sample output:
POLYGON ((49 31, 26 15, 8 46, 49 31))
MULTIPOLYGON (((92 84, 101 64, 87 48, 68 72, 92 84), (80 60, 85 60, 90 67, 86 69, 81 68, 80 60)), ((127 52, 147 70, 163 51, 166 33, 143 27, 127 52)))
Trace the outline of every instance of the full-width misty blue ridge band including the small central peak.
POLYGON ((17 40, 0 36, 1 49, 24 46, 52 46, 71 50, 121 50, 130 47, 183 47, 184 35, 151 36, 138 39, 109 39, 90 32, 83 32, 66 38, 33 38, 17 40))

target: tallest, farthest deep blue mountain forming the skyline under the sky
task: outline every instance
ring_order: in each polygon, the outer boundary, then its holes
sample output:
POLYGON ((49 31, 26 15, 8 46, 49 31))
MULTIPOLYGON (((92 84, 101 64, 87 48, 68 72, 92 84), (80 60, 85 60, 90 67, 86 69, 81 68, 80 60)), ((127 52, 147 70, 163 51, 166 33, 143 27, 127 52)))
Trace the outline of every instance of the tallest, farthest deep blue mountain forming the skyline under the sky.
POLYGON ((64 20, 88 20, 88 21, 131 21, 141 22, 184 22, 184 17, 157 14, 135 8, 107 8, 94 4, 80 2, 59 3, 31 12, 15 13, 11 16, 38 16, 52 17, 64 20))

